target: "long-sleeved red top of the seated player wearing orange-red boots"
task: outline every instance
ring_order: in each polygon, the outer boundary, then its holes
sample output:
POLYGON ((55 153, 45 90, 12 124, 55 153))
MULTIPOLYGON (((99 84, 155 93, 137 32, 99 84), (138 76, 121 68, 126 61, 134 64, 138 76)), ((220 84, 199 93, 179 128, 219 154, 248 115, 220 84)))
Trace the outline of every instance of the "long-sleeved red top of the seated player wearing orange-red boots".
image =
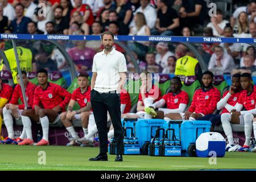
POLYGON ((53 109, 59 105, 62 108, 61 111, 65 111, 65 106, 70 100, 71 94, 67 90, 57 84, 48 82, 46 89, 43 90, 41 86, 35 89, 33 109, 35 105, 40 106, 40 104, 44 109, 53 109))

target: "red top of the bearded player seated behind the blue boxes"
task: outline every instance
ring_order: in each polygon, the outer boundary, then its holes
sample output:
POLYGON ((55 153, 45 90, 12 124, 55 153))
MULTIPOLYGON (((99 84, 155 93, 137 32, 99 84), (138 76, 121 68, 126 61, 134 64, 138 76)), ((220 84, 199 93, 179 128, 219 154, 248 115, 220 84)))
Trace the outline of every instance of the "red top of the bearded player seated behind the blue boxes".
POLYGON ((204 115, 212 114, 218 101, 220 101, 220 92, 214 86, 209 90, 199 89, 196 90, 188 111, 204 115))

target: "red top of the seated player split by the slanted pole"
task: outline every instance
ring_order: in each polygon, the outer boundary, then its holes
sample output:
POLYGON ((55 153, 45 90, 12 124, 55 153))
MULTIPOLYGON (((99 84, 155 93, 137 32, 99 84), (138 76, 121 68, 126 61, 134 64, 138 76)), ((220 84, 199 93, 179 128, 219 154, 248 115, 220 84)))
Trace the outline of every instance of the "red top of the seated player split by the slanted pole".
MULTIPOLYGON (((27 108, 31 109, 34 101, 34 92, 35 92, 36 85, 32 84, 30 81, 27 82, 27 88, 26 88, 26 97, 27 97, 27 108)), ((13 97, 11 97, 10 104, 19 105, 19 109, 25 109, 23 95, 22 95, 22 89, 21 86, 18 84, 14 88, 13 97), (19 98, 20 101, 22 101, 22 104, 19 104, 19 98)))

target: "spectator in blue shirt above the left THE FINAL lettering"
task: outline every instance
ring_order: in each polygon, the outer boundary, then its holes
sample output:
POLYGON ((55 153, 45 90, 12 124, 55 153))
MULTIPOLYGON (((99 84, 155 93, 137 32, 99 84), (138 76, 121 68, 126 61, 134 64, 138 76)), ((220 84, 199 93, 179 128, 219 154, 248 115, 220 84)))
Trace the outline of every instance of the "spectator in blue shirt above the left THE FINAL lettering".
POLYGON ((27 24, 31 19, 23 16, 24 6, 18 3, 15 6, 16 19, 11 21, 10 27, 13 29, 13 34, 27 34, 27 24))

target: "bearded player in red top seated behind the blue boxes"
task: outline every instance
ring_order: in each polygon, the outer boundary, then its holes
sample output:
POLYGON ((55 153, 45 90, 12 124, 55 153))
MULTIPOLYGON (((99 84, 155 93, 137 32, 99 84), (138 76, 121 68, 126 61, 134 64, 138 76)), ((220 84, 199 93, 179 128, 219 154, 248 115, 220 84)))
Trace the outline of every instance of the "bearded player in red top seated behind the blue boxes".
POLYGON ((213 73, 210 71, 204 72, 202 82, 202 88, 196 90, 188 111, 166 114, 165 117, 174 120, 196 120, 204 117, 204 115, 212 114, 220 100, 220 92, 212 85, 213 73))

